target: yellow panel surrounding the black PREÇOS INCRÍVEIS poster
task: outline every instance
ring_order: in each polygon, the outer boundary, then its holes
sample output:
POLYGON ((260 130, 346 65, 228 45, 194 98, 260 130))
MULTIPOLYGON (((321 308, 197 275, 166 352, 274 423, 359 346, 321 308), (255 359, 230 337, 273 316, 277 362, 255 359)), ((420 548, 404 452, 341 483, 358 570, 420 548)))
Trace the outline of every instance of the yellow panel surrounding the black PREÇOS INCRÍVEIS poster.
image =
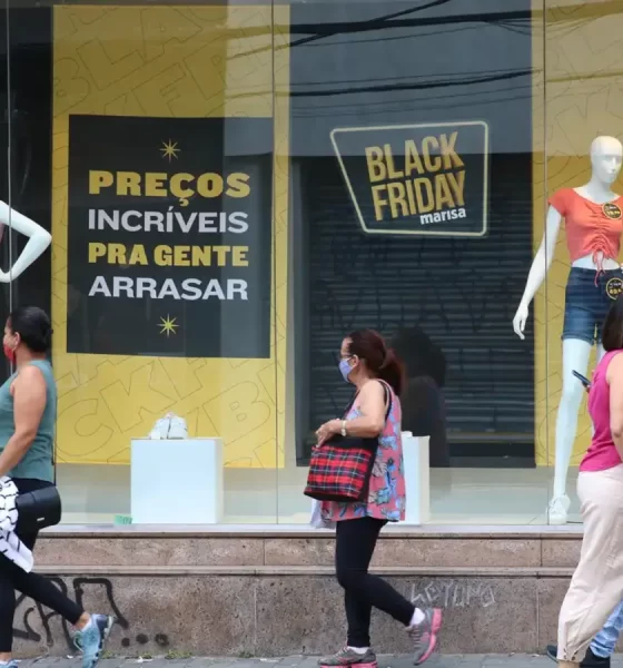
POLYGON ((228 465, 284 464, 288 23, 288 8, 270 6, 55 8, 52 354, 59 461, 127 464, 130 440, 146 436, 172 411, 186 418, 190 435, 221 436, 228 465), (273 21, 279 26, 275 35, 273 21), (275 118, 269 358, 66 352, 72 307, 68 121, 78 114, 275 118))

